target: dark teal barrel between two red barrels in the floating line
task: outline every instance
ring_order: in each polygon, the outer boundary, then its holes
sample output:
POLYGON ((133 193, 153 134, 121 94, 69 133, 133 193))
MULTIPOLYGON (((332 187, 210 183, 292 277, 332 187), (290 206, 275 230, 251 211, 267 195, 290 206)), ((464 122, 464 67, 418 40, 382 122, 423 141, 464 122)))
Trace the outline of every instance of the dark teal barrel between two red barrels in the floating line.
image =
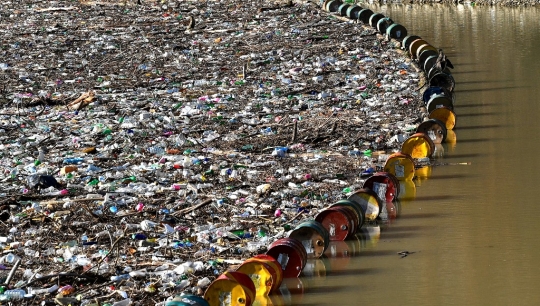
POLYGON ((319 222, 310 220, 296 226, 289 234, 304 245, 308 258, 319 258, 330 243, 330 234, 319 222))

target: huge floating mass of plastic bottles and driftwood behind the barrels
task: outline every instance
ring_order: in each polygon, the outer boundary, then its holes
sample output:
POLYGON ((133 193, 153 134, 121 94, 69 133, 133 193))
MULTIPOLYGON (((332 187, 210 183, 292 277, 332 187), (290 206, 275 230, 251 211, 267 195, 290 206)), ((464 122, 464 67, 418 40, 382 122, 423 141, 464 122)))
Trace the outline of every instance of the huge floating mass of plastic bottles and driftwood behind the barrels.
POLYGON ((311 2, 1 7, 3 301, 202 295, 426 116, 399 42, 311 2))

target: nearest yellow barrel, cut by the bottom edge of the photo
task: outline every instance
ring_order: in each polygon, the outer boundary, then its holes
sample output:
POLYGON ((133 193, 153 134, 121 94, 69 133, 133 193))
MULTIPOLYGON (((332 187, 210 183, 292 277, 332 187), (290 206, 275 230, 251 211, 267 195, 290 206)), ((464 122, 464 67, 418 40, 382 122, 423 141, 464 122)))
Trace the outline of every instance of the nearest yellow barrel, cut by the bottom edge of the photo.
POLYGON ((255 285, 244 273, 227 271, 208 286, 204 299, 210 305, 250 306, 255 300, 255 285))

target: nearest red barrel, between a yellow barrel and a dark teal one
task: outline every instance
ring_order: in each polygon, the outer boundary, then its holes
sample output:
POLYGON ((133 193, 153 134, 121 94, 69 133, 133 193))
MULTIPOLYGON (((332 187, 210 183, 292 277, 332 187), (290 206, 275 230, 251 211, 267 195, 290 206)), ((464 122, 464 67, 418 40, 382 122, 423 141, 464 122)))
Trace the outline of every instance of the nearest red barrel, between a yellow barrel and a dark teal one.
POLYGON ((298 277, 306 265, 307 253, 302 243, 293 238, 281 238, 274 241, 266 255, 272 256, 283 270, 283 278, 298 277))

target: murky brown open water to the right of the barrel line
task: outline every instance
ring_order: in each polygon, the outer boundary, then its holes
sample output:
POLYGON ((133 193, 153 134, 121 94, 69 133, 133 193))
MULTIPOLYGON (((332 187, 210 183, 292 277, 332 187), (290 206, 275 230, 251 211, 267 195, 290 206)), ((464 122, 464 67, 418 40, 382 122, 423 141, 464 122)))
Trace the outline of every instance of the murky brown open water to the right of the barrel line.
MULTIPOLYGON (((333 246, 292 305, 540 301, 540 10, 375 6, 454 63, 457 143, 371 239, 333 246), (380 234, 380 235, 379 235, 380 234), (415 252, 400 258, 399 251, 415 252), (326 272, 325 272, 326 271, 326 272)), ((372 229, 378 231, 379 229, 372 229)), ((373 233, 372 233, 373 234, 373 233)), ((309 269, 308 269, 309 271, 309 269)), ((292 300, 291 300, 292 299, 292 300)))

